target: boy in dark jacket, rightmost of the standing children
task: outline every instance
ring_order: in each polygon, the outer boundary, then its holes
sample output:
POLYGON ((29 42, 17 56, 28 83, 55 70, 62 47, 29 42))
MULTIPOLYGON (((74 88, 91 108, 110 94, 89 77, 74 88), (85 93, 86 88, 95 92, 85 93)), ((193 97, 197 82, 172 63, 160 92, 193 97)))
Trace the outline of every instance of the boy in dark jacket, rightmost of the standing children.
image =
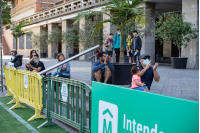
MULTIPOLYGON (((138 62, 139 62, 141 48, 142 48, 142 40, 138 36, 138 32, 136 30, 134 30, 133 31, 133 41, 132 41, 132 45, 131 45, 131 53, 133 53, 134 63, 137 63, 136 56, 137 56, 138 62)), ((139 65, 140 65, 140 62, 139 62, 139 65)))

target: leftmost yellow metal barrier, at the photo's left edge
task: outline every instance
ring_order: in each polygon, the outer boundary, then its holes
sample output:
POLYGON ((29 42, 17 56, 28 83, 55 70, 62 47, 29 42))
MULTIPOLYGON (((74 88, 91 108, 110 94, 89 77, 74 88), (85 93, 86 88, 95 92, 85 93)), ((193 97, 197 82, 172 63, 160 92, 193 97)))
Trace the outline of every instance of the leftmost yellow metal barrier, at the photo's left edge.
POLYGON ((14 67, 4 67, 5 80, 7 86, 7 94, 5 96, 13 96, 13 100, 10 101, 8 104, 15 103, 15 71, 16 69, 14 67))

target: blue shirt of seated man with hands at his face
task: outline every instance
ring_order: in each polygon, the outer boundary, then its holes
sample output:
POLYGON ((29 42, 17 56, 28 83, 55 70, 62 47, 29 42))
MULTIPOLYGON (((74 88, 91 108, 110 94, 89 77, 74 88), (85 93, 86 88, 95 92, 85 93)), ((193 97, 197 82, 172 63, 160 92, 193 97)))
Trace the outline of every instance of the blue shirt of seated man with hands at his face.
POLYGON ((110 61, 107 61, 107 64, 105 65, 104 63, 100 63, 99 60, 97 60, 96 62, 94 62, 92 70, 94 72, 98 71, 99 69, 101 69, 101 74, 104 75, 105 73, 105 67, 108 66, 110 68, 111 71, 114 71, 114 66, 112 65, 112 63, 110 61))

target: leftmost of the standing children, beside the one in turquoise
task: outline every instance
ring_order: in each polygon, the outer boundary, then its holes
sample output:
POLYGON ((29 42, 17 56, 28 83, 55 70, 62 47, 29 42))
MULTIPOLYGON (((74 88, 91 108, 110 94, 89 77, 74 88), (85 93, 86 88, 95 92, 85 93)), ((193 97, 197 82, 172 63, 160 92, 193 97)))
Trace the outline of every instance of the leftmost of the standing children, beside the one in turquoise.
POLYGON ((109 34, 109 38, 106 41, 106 54, 109 55, 109 60, 111 61, 111 57, 113 54, 113 33, 109 34))

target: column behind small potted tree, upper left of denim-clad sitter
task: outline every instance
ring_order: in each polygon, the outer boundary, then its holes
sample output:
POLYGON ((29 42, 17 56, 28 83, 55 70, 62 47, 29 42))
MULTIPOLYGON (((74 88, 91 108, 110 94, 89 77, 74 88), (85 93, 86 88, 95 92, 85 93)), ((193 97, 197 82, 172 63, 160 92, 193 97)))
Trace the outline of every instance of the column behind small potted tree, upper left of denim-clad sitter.
MULTIPOLYGON (((48 32, 51 32, 55 28, 56 24, 53 23, 48 24, 48 32)), ((53 53, 56 53, 56 47, 53 46, 52 44, 48 44, 48 58, 52 58, 53 53)))

